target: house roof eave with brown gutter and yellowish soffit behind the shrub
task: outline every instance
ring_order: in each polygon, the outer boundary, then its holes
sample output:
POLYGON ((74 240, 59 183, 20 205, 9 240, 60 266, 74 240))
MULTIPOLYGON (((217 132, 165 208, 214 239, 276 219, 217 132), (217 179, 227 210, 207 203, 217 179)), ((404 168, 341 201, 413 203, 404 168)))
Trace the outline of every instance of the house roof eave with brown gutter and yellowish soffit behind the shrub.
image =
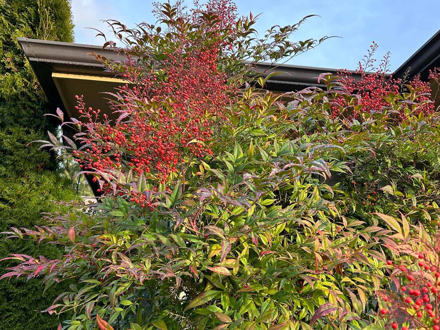
MULTIPOLYGON (((108 48, 87 44, 73 44, 59 41, 18 38, 38 81, 48 97, 51 111, 57 107, 70 117, 77 117, 74 110, 75 94, 83 94, 86 103, 106 111, 107 100, 100 92, 110 92, 126 81, 115 78, 90 53, 97 53, 110 60, 123 60, 123 56, 108 48)), ((320 73, 337 73, 336 69, 310 66, 279 65, 260 63, 257 70, 263 77, 272 71, 280 71, 269 79, 266 88, 272 91, 290 92, 309 86, 324 87, 316 77, 320 73)), ((357 74, 354 73, 356 77, 357 74)), ((107 96, 106 96, 107 97, 107 96)))

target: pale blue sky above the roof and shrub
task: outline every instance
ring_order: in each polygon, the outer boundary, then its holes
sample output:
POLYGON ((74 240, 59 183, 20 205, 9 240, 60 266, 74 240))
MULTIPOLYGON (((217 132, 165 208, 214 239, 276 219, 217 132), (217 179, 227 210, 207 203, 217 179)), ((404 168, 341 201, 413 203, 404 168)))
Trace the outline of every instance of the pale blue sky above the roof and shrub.
MULTIPOLYGON (((85 27, 108 31, 100 20, 117 19, 127 26, 154 23, 152 0, 73 0, 75 42, 103 44, 95 32, 85 27)), ((439 0, 236 0, 240 15, 260 14, 256 29, 263 35, 273 25, 292 24, 305 15, 310 18, 293 40, 339 36, 297 56, 290 64, 355 69, 375 41, 377 59, 391 51, 391 69, 398 68, 440 29, 439 0)), ((192 1, 186 2, 191 5, 192 1)), ((110 33, 107 34, 110 37, 110 33)), ((111 39, 111 38, 110 38, 111 39)))

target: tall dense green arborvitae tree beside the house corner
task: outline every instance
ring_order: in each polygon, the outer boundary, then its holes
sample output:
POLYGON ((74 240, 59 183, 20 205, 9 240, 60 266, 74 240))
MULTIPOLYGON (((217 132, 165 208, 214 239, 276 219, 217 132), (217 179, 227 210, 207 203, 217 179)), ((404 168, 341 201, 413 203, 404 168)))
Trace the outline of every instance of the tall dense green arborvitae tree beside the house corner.
MULTIPOLYGON (((72 183, 54 154, 27 143, 56 134, 57 125, 43 115, 48 101, 18 44, 18 37, 73 42, 69 0, 0 0, 0 231, 41 224, 51 201, 71 200, 72 183)), ((0 242, 0 258, 14 253, 59 256, 56 246, 0 242)), ((2 262, 0 272, 13 263, 2 262)), ((0 283, 0 329, 56 329, 59 320, 40 313, 63 292, 44 289, 40 281, 12 279, 0 283)))

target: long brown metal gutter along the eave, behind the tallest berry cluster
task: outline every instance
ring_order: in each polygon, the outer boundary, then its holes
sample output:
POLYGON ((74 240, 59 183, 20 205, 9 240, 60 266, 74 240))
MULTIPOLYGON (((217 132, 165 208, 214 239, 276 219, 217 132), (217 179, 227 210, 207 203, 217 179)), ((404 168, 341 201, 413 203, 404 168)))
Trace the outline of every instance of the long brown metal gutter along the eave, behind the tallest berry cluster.
MULTIPOLYGON (((87 44, 72 44, 59 41, 37 40, 28 38, 18 38, 26 57, 29 59, 38 79, 45 72, 66 72, 77 74, 93 74, 93 75, 111 75, 109 72, 104 72, 102 66, 89 53, 95 52, 101 56, 105 56, 110 60, 123 60, 123 56, 116 51, 108 48, 102 49, 100 46, 87 44)), ((319 68, 312 66, 294 66, 294 65, 278 65, 274 66, 270 63, 260 63, 257 65, 257 71, 263 77, 266 77, 273 71, 281 73, 269 79, 267 88, 276 91, 291 92, 300 90, 308 86, 320 86, 316 77, 324 72, 337 74, 336 69, 319 68)), ((355 78, 358 74, 354 71, 355 78)), ((47 79, 40 80, 40 83, 45 88, 44 82, 47 79)))

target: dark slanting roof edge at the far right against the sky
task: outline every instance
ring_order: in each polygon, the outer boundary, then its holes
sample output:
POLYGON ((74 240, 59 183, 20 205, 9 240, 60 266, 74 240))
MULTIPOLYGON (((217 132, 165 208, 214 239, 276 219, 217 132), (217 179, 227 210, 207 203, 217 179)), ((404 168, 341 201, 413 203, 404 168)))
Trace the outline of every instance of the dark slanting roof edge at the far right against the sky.
POLYGON ((407 79, 412 79, 417 74, 423 81, 428 80, 429 70, 440 66, 440 30, 437 31, 425 44, 420 47, 393 73, 395 78, 403 78, 408 71, 407 79))

